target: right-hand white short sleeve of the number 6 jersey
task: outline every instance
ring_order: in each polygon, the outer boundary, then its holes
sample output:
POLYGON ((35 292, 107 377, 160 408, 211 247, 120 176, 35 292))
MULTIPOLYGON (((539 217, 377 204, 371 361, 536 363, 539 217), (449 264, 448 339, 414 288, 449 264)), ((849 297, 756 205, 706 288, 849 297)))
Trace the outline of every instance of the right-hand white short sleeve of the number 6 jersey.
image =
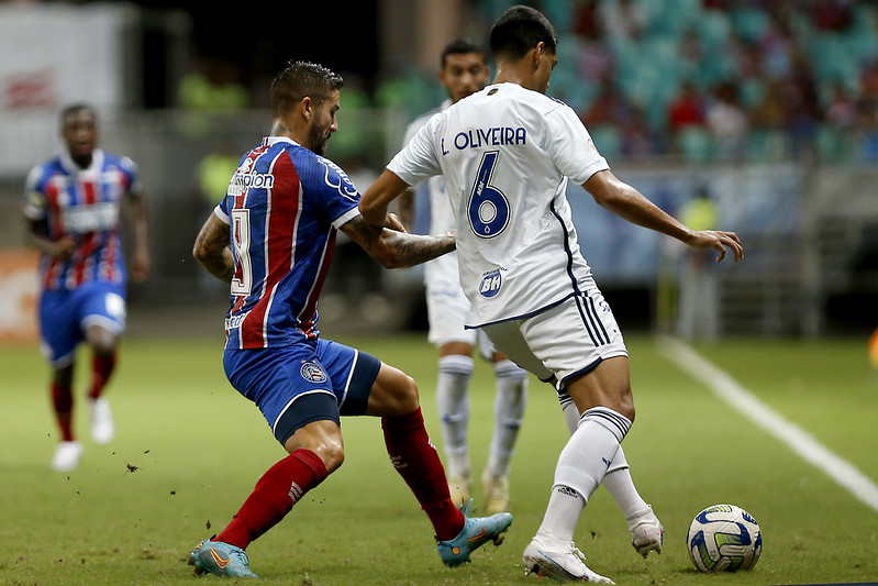
POLYGON ((610 168, 574 110, 559 104, 546 114, 546 150, 565 176, 582 185, 599 170, 610 168))

